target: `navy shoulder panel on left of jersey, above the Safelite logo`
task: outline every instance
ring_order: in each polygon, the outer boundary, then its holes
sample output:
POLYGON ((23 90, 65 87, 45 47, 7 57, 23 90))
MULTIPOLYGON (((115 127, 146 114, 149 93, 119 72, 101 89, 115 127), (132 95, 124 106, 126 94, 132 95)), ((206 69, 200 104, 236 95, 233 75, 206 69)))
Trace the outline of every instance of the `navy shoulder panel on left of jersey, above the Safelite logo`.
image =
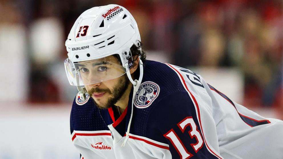
POLYGON ((98 131, 98 130, 108 130, 108 127, 104 123, 100 112, 92 98, 90 97, 85 103, 78 103, 78 95, 76 95, 71 115, 70 115, 70 128, 71 133, 73 130, 77 131, 98 131))

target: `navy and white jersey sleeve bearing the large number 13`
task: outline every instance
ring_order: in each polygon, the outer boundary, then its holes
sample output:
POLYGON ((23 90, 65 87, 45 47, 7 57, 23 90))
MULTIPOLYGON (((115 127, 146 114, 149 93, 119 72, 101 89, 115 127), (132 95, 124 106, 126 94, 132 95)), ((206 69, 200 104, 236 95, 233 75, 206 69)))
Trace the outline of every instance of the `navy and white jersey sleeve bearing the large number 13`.
POLYGON ((205 111, 200 112, 198 107, 201 105, 187 92, 167 95, 158 101, 158 105, 151 112, 146 133, 150 138, 168 144, 173 159, 222 158, 219 155, 212 115, 205 111), (202 123, 200 119, 204 116, 212 121, 202 123), (211 130, 203 132, 204 125, 211 127, 211 130))

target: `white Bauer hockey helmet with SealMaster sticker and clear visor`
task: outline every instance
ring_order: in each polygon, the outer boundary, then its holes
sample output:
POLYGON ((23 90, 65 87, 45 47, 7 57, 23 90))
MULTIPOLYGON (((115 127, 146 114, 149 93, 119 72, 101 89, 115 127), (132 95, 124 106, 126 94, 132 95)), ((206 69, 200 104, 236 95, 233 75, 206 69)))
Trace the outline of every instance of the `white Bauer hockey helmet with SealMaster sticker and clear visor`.
MULTIPOLYGON (((140 79, 134 81, 129 73, 133 64, 130 48, 133 44, 139 46, 140 41, 138 25, 126 8, 111 4, 84 11, 74 23, 65 43, 68 58, 64 64, 69 83, 83 86, 127 73, 136 86, 142 78, 142 62, 140 60, 140 79), (120 57, 120 64, 113 63, 109 58, 114 54, 120 57), (111 65, 112 69, 106 72, 103 64, 111 65), (90 70, 85 66, 97 65, 102 66, 92 70, 92 74, 86 74, 90 70)), ((82 91, 80 87, 78 90, 82 91)))

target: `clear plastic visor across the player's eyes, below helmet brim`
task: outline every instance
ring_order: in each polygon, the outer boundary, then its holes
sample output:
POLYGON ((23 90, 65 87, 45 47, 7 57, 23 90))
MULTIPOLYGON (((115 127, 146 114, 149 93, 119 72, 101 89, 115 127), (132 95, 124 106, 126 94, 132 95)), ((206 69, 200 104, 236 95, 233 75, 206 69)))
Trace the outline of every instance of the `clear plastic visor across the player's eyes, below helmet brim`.
POLYGON ((69 58, 64 61, 65 71, 70 85, 89 85, 118 78, 126 73, 115 56, 107 56, 85 62, 70 62, 69 58))

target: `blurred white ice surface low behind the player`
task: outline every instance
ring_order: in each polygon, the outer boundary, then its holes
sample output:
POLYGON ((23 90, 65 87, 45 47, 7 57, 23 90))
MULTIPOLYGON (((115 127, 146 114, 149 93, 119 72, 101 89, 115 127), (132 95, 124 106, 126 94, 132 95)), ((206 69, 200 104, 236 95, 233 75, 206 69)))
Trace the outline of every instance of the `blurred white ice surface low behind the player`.
MULTIPOLYGON (((79 159, 70 137, 70 104, 0 105, 0 159, 79 159)), ((275 118, 273 109, 252 109, 275 118)))

